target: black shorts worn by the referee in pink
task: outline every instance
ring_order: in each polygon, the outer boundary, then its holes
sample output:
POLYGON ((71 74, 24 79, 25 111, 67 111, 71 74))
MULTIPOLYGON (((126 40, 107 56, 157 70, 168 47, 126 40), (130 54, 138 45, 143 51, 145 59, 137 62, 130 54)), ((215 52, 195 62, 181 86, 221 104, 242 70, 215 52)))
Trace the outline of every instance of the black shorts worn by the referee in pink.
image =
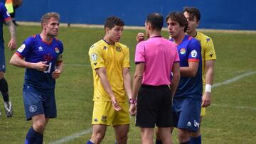
POLYGON ((142 84, 137 99, 136 126, 141 128, 171 127, 171 90, 167 85, 142 84))

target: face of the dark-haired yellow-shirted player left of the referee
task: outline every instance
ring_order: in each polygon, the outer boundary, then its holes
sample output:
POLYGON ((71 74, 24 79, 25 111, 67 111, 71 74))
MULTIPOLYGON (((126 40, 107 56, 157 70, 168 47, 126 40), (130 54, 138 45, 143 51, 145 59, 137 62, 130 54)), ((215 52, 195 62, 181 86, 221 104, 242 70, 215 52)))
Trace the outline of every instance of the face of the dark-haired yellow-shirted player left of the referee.
POLYGON ((114 28, 107 29, 107 36, 111 43, 116 43, 122 36, 124 26, 114 26, 114 28))

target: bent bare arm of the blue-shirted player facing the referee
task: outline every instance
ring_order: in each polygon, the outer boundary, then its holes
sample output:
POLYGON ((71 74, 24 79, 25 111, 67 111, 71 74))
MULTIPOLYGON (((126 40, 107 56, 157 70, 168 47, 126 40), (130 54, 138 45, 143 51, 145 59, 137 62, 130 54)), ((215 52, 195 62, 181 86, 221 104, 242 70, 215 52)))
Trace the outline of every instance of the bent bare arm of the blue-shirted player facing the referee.
POLYGON ((182 77, 196 77, 198 71, 198 62, 188 62, 188 67, 181 67, 182 77))

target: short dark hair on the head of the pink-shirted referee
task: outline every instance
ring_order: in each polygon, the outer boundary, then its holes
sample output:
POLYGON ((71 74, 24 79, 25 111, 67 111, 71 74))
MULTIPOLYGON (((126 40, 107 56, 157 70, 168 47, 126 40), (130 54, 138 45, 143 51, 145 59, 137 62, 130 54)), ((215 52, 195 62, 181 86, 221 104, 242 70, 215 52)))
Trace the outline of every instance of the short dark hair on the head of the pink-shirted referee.
POLYGON ((164 17, 160 13, 151 13, 146 17, 146 23, 151 23, 154 30, 160 30, 163 28, 164 17))

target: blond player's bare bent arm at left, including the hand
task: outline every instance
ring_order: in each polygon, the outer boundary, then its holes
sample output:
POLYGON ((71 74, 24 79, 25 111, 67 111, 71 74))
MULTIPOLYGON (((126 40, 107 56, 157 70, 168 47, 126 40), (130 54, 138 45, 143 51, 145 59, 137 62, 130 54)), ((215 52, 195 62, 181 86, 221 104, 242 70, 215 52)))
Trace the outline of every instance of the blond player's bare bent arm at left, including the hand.
POLYGON ((36 70, 39 70, 42 72, 45 71, 46 68, 49 66, 49 65, 46 65, 46 61, 45 62, 36 62, 36 63, 26 62, 25 60, 21 59, 21 57, 19 57, 15 53, 11 57, 10 64, 14 65, 16 67, 31 68, 31 69, 36 69, 36 70))

